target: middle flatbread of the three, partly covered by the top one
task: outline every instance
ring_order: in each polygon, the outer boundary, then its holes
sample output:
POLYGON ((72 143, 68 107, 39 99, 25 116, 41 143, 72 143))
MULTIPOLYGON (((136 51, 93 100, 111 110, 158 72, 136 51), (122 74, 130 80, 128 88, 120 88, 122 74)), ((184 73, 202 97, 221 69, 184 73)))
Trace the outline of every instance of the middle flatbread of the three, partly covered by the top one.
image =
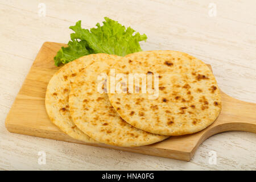
POLYGON ((167 136, 147 133, 129 125, 110 104, 105 93, 106 80, 109 68, 115 62, 114 59, 95 62, 76 77, 69 94, 73 122, 94 140, 114 146, 142 146, 166 139, 167 136))

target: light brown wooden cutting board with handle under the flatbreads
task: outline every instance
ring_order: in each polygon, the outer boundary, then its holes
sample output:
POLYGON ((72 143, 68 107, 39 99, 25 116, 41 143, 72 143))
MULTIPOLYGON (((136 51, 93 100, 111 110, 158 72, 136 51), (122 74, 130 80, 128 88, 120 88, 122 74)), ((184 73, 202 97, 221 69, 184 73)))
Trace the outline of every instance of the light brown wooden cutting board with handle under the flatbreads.
MULTIPOLYGON (((55 67, 53 57, 65 44, 43 44, 14 104, 7 115, 5 125, 12 133, 89 144, 72 139, 51 123, 44 106, 48 81, 60 68, 55 67)), ((162 142, 141 147, 116 147, 106 144, 89 144, 116 150, 162 156, 189 161, 197 147, 208 137, 223 131, 250 131, 256 133, 256 104, 243 102, 221 92, 222 111, 207 129, 196 134, 170 137, 162 142)))

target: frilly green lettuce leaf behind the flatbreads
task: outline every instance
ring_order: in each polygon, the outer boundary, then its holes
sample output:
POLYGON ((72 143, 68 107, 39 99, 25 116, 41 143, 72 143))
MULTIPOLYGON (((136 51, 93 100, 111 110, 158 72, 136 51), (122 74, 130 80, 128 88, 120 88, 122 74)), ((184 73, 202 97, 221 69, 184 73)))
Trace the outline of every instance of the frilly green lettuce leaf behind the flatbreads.
POLYGON ((68 47, 62 47, 55 56, 55 65, 66 64, 81 56, 90 53, 108 53, 118 56, 125 56, 129 53, 142 51, 140 41, 146 40, 145 34, 135 33, 131 27, 125 28, 117 21, 104 18, 105 22, 97 28, 90 30, 81 27, 81 20, 71 26, 75 33, 71 34, 71 40, 68 47))

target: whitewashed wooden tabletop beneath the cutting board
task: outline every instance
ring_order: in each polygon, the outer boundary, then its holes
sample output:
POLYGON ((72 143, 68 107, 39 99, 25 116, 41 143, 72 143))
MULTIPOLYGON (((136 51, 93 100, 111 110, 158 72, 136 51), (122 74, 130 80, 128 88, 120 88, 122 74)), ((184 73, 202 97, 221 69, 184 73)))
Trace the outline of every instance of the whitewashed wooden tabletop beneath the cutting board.
POLYGON ((224 92, 255 103, 255 7, 255 0, 1 0, 0 169, 255 170, 253 133, 214 135, 201 144, 191 162, 183 162, 11 134, 5 128, 6 115, 42 44, 67 43, 72 32, 68 27, 77 20, 90 28, 104 16, 145 33, 144 50, 179 50, 211 64, 224 92), (38 164, 39 151, 46 152, 46 164, 38 164), (211 151, 217 156, 216 164, 209 162, 211 151))

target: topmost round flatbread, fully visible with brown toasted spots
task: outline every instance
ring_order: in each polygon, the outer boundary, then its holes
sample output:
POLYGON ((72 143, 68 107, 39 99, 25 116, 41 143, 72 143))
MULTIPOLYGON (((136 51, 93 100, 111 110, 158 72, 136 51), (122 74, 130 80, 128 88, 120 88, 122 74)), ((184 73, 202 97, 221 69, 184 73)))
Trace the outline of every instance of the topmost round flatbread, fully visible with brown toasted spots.
POLYGON ((137 52, 123 57, 113 69, 116 75, 126 74, 126 80, 132 78, 130 73, 142 73, 156 81, 152 92, 142 93, 141 84, 134 86, 127 81, 128 93, 108 93, 117 113, 138 129, 170 136, 191 134, 205 129, 220 114, 220 90, 213 73, 203 61, 187 53, 137 52))

